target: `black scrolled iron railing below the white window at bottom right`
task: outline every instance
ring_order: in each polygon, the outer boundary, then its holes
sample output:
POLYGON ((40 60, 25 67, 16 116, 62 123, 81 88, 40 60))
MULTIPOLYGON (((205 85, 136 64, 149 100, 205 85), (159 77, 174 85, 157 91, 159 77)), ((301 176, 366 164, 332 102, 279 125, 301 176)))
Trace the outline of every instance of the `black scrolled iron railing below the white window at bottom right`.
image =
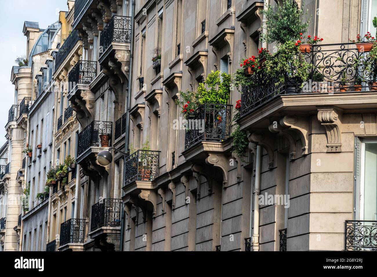
POLYGON ((344 250, 377 251, 377 221, 346 220, 344 250))

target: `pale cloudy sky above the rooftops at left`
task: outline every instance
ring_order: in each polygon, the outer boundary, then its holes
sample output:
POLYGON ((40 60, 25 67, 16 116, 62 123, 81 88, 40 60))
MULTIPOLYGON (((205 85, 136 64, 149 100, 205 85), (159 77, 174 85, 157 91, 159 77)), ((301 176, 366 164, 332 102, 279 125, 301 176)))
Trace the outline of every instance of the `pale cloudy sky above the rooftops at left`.
POLYGON ((0 22, 0 147, 6 142, 5 125, 8 112, 14 104, 14 85, 11 83, 15 59, 26 54, 26 37, 22 29, 24 21, 36 21, 46 29, 58 21, 59 11, 68 11, 67 0, 17 0, 1 1, 0 22))

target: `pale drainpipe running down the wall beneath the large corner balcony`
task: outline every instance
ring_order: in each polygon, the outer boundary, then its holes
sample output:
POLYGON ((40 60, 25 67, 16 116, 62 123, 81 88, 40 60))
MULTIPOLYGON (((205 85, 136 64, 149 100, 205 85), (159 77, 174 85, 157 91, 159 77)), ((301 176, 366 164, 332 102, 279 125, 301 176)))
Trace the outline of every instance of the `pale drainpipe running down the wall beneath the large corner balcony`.
POLYGON ((262 146, 257 146, 257 161, 255 167, 255 188, 254 188, 254 223, 253 223, 253 251, 259 251, 259 192, 261 191, 261 159, 262 146))

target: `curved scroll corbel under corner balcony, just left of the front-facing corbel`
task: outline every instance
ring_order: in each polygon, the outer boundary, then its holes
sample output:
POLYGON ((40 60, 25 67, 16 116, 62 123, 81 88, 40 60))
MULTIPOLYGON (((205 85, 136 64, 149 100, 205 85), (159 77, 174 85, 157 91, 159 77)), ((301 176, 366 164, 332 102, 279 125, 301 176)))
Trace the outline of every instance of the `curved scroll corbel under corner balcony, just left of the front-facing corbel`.
POLYGON ((280 125, 292 129, 300 136, 302 144, 302 155, 308 155, 308 130, 309 130, 309 120, 308 118, 300 116, 298 118, 296 115, 286 115, 280 119, 280 125))

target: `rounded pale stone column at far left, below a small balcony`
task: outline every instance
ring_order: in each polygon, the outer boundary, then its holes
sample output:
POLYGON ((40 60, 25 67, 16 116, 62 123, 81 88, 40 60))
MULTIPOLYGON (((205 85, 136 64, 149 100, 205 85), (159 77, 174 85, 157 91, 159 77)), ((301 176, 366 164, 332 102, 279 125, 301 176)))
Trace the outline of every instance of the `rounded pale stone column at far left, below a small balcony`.
POLYGON ((8 185, 8 209, 6 215, 6 230, 5 230, 5 244, 4 251, 17 251, 17 234, 13 230, 18 223, 18 214, 20 211, 20 196, 22 188, 16 181, 17 171, 22 167, 23 153, 23 139, 25 137, 25 130, 21 127, 15 127, 11 130, 12 138, 12 156, 10 165, 10 179, 8 185))

